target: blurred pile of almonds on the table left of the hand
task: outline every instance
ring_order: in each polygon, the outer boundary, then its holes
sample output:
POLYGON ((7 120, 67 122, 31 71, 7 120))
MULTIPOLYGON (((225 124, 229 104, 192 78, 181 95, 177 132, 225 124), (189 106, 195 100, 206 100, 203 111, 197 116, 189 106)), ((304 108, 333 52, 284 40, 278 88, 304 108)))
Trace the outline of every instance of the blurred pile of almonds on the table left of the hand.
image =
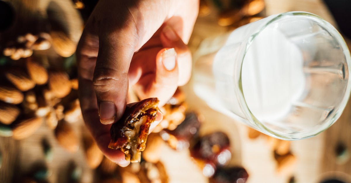
POLYGON ((0 122, 1 129, 9 130, 0 135, 21 140, 45 121, 64 148, 76 151, 79 143, 69 123, 82 118, 77 79, 69 79, 65 71, 47 69, 32 57, 17 62, 3 66, 6 82, 0 86, 0 122))

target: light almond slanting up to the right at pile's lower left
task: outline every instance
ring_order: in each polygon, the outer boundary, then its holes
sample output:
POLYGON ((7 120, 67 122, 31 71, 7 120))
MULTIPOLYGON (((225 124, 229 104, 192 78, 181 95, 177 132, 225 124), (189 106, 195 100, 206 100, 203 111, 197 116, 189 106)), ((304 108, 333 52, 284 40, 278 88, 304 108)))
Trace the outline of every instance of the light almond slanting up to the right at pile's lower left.
POLYGON ((26 120, 21 120, 12 128, 13 138, 16 140, 22 140, 31 136, 40 127, 41 123, 41 117, 32 117, 26 120))

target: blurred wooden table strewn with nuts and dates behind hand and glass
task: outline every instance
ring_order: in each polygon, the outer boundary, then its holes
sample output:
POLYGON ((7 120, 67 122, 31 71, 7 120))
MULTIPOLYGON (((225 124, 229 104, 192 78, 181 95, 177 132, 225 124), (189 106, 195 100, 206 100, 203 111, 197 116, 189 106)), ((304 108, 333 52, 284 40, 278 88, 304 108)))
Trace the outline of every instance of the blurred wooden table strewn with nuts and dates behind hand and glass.
MULTIPOLYGON (((105 158, 82 121, 75 49, 97 0, 0 0, 0 182, 351 183, 351 106, 316 137, 283 141, 207 107, 192 80, 161 109, 141 163, 105 158)), ((306 11, 351 47, 350 0, 201 0, 188 46, 306 11)))

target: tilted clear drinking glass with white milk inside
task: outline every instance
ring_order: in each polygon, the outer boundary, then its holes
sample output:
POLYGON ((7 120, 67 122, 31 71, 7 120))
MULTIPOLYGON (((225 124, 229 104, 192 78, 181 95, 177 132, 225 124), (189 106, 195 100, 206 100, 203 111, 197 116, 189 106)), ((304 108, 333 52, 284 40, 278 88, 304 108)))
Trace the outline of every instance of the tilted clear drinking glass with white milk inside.
POLYGON ((298 140, 342 114, 350 62, 330 23, 287 12, 204 40, 194 54, 192 83, 211 108, 267 135, 298 140))

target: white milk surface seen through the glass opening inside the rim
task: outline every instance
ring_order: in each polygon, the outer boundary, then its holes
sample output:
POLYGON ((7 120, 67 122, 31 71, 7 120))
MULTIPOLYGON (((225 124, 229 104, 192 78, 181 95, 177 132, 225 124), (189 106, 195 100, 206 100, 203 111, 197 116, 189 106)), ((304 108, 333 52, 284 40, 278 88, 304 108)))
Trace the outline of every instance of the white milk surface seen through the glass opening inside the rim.
POLYGON ((261 122, 279 120, 304 91, 302 53, 277 29, 267 27, 247 50, 241 77, 251 113, 261 122))

